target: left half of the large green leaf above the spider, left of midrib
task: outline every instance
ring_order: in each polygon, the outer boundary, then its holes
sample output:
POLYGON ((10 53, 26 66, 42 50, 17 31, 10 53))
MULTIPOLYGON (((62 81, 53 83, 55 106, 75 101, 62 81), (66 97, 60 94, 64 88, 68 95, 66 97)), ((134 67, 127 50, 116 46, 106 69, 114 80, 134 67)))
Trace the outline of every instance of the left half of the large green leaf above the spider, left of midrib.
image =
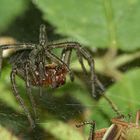
POLYGON ((56 32, 87 45, 107 44, 106 38, 102 37, 107 36, 102 2, 42 0, 36 1, 36 5, 43 12, 44 19, 57 27, 56 32))

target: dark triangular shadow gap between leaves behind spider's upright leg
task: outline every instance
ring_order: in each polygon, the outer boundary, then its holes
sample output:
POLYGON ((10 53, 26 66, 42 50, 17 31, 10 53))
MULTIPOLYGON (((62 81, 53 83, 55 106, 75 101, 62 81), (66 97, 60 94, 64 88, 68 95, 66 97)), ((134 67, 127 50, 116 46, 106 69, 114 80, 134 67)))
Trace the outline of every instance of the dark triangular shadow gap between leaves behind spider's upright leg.
POLYGON ((27 11, 21 17, 18 17, 1 35, 12 36, 22 43, 38 43, 41 24, 47 26, 49 41, 63 38, 59 34, 54 33, 55 27, 42 19, 41 12, 31 2, 27 11))

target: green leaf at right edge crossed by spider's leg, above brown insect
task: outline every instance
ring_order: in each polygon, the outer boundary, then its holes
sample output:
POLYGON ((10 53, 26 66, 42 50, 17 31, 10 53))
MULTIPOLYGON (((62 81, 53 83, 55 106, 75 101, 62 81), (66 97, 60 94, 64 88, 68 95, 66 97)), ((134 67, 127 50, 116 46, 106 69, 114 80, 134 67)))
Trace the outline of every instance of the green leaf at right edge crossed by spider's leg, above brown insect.
MULTIPOLYGON (((121 81, 107 90, 106 95, 125 116, 130 114, 135 118, 137 110, 140 109, 140 69, 133 69, 127 72, 121 81)), ((100 100, 98 108, 102 110, 102 113, 98 112, 100 113, 98 115, 102 116, 102 120, 105 121, 103 114, 109 116, 110 120, 116 117, 115 112, 104 98, 100 100)), ((99 125, 101 126, 102 124, 99 125)))

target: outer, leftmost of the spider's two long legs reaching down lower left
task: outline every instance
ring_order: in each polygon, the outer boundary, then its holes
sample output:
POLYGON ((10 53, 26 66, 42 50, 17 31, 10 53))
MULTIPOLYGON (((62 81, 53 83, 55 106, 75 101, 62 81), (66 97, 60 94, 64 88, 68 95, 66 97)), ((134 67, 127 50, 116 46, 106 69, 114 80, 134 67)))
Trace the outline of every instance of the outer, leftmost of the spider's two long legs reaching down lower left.
POLYGON ((21 96, 19 95, 19 92, 17 90, 16 81, 15 81, 16 74, 17 74, 17 69, 15 68, 11 71, 11 75, 10 75, 13 94, 16 97, 17 101, 20 103, 21 107, 23 108, 23 110, 24 110, 24 112, 25 112, 25 114, 30 122, 31 127, 34 128, 35 124, 34 124, 34 121, 31 117, 31 115, 30 115, 30 112, 29 112, 28 108, 25 106, 25 103, 24 103, 23 99, 21 98, 21 96))

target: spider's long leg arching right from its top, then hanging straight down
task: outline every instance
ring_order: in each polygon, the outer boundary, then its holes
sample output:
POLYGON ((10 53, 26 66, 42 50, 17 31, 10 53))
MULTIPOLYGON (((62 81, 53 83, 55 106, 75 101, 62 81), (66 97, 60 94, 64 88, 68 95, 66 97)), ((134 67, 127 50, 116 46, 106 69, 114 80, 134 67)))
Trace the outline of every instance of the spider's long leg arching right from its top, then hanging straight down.
POLYGON ((94 60, 92 56, 86 51, 78 42, 63 42, 63 43, 55 43, 48 45, 48 48, 72 48, 77 50, 83 57, 88 61, 88 65, 90 67, 90 81, 91 81, 91 89, 92 89, 92 96, 96 97, 95 94, 95 69, 94 69, 94 60))

